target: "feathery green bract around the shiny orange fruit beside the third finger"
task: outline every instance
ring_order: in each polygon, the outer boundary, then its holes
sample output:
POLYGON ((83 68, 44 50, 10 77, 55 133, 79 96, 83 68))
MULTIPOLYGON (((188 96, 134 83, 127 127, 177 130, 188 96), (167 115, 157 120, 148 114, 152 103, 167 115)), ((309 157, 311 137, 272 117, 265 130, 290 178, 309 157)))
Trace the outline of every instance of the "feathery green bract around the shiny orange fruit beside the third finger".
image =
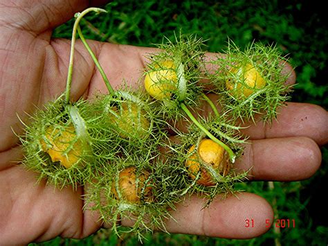
MULTIPOLYGON (((243 146, 246 143, 246 139, 241 137, 239 130, 241 129, 237 124, 231 120, 228 120, 226 116, 208 116, 207 118, 198 117, 199 122, 220 141, 226 143, 237 155, 237 158, 243 152, 243 146)), ((207 198, 206 204, 209 204, 212 199, 218 195, 227 195, 228 193, 235 193, 234 183, 244 181, 247 179, 248 172, 235 173, 235 168, 230 169, 228 175, 221 175, 220 170, 214 170, 211 168, 211 164, 204 163, 199 157, 198 147, 202 139, 206 139, 204 134, 196 125, 191 124, 188 128, 188 132, 181 132, 176 130, 175 142, 167 143, 166 148, 170 151, 167 152, 168 161, 176 164, 176 172, 181 178, 179 185, 176 185, 174 192, 180 193, 180 195, 192 195, 194 193, 203 195, 207 198), (193 152, 189 152, 190 147, 195 146, 193 152), (187 160, 191 160, 191 155, 197 153, 201 169, 206 169, 211 173, 212 180, 216 183, 213 186, 203 186, 197 184, 197 179, 200 177, 201 170, 196 174, 196 178, 189 177, 188 170, 185 166, 187 160), (179 174, 178 174, 179 173, 179 174)), ((172 165, 172 164, 171 164, 172 165)), ((205 206, 205 204, 204 204, 205 206)))

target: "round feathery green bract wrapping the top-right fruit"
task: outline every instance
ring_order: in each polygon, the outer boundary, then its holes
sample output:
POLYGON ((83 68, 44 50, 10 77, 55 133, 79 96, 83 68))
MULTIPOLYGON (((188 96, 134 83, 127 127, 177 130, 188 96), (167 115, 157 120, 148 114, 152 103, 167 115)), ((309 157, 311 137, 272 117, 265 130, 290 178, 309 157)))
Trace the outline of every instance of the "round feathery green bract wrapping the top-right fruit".
POLYGON ((241 51, 230 41, 225 55, 211 63, 217 66, 215 75, 210 76, 214 91, 220 95, 224 111, 234 118, 255 121, 255 114, 260 114, 264 121, 271 122, 277 116, 277 108, 289 98, 291 87, 285 85, 290 76, 286 73, 286 59, 275 46, 253 43, 241 51), (249 85, 252 76, 265 85, 256 82, 249 85))

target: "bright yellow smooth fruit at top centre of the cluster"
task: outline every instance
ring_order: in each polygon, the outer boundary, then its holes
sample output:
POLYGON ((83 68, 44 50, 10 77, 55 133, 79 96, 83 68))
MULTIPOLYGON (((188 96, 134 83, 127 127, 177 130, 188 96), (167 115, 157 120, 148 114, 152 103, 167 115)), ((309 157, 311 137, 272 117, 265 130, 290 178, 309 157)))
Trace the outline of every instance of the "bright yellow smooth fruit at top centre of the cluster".
POLYGON ((146 73, 146 91, 157 100, 170 99, 178 82, 174 62, 165 60, 154 66, 154 69, 156 70, 146 73))

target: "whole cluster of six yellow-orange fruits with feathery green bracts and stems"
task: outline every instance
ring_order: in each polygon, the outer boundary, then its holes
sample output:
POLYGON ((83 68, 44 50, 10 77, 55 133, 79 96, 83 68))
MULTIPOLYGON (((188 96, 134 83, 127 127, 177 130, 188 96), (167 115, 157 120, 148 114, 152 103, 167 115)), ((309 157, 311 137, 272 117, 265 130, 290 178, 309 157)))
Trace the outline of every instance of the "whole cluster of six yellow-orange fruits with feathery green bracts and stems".
POLYGON ((26 124, 24 165, 58 188, 88 184, 84 209, 100 211, 114 230, 121 220, 133 220, 137 233, 165 230, 170 210, 188 195, 210 202, 217 193, 233 192, 233 182, 247 175, 233 165, 246 143, 240 121, 255 114, 271 121, 289 92, 279 51, 229 44, 226 54, 206 60, 201 39, 179 35, 149 55, 143 88, 114 91, 75 28, 109 94, 71 102, 69 78, 66 94, 26 124), (204 104, 212 111, 206 117, 204 104), (179 129, 181 123, 188 129, 179 129))

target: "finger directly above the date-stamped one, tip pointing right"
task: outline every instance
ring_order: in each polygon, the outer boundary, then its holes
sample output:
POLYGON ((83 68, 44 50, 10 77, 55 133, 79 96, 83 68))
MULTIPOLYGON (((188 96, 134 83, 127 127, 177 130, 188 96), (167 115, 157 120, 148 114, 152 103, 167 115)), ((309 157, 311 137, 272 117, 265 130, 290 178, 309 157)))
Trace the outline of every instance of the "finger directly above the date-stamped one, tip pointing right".
POLYGON ((311 177, 320 164, 320 148, 312 139, 288 137, 250 141, 235 168, 249 170, 249 179, 298 181, 311 177))

